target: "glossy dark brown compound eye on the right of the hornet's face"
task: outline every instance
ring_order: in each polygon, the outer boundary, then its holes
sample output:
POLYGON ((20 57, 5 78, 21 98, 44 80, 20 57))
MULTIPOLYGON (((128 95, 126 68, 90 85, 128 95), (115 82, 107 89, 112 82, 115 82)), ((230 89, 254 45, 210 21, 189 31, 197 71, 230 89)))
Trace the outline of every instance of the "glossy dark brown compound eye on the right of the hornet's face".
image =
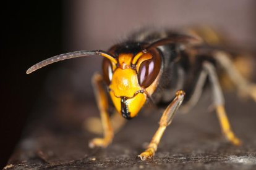
POLYGON ((139 84, 142 87, 148 87, 158 76, 161 68, 161 57, 155 50, 151 52, 152 59, 145 60, 139 66, 139 84))

